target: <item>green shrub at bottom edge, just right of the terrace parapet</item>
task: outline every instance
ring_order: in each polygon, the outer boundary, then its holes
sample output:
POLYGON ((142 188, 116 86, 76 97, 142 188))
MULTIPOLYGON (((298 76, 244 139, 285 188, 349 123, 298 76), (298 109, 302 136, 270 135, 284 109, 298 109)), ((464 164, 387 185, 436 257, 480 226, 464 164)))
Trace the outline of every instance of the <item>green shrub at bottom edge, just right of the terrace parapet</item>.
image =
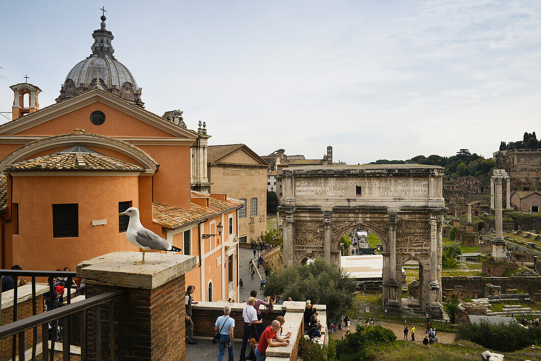
POLYGON ((373 358, 377 351, 392 345, 396 339, 394 332, 384 327, 364 327, 358 324, 355 332, 337 341, 337 360, 359 361, 373 358))

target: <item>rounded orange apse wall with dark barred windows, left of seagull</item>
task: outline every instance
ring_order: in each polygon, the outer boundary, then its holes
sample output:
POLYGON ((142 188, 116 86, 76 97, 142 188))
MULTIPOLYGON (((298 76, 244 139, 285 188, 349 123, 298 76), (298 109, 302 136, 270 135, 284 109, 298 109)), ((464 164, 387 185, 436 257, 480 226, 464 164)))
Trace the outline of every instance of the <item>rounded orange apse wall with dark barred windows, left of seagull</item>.
POLYGON ((115 251, 138 251, 118 232, 118 202, 138 207, 137 176, 14 176, 19 234, 12 235, 14 263, 25 269, 75 269, 115 251), (52 204, 77 203, 78 237, 52 237, 52 204), (107 220, 92 226, 93 220, 107 220))

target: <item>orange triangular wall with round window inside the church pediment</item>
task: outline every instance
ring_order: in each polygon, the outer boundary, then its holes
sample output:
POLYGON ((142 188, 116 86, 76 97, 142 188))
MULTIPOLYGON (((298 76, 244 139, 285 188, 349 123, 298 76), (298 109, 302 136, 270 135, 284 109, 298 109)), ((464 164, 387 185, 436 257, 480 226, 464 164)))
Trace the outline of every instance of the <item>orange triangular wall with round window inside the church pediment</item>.
POLYGON ((73 133, 76 128, 84 129, 87 133, 112 137, 175 137, 101 102, 89 104, 16 134, 51 136, 73 133), (94 110, 101 110, 105 114, 105 122, 100 126, 95 126, 90 122, 90 113, 94 110))

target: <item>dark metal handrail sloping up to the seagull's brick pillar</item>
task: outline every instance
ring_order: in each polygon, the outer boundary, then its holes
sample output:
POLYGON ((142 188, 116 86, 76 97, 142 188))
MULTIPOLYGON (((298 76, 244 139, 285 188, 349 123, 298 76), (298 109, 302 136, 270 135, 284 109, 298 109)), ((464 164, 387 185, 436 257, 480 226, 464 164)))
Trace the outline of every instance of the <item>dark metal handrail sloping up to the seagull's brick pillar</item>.
MULTIPOLYGON (((38 271, 41 272, 41 271, 38 271)), ((89 309, 97 305, 108 302, 111 299, 118 298, 122 294, 127 293, 128 290, 115 290, 98 294, 96 296, 84 299, 82 301, 72 303, 55 310, 38 313, 35 316, 30 316, 22 320, 18 320, 3 326, 0 326, 0 339, 12 336, 19 332, 23 332, 33 327, 54 321, 56 319, 69 316, 78 311, 89 309)))

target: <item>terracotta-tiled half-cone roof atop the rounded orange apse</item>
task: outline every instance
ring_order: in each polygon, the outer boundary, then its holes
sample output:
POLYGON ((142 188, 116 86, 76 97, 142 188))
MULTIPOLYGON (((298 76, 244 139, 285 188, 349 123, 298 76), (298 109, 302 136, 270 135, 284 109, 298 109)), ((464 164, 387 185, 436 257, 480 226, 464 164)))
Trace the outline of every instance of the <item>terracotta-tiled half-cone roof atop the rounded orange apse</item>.
POLYGON ((55 153, 34 159, 23 160, 5 167, 6 172, 24 170, 115 170, 144 172, 131 163, 114 159, 103 154, 55 153))

